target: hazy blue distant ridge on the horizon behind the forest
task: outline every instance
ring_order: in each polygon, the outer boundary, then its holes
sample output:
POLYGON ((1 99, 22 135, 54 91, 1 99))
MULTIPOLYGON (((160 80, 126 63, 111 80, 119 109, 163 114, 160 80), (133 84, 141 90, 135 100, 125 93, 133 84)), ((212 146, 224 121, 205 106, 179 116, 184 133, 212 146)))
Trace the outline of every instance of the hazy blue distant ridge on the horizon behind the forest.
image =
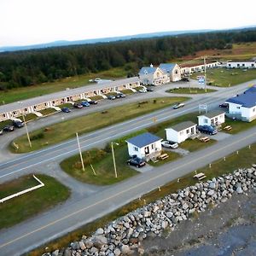
POLYGON ((95 39, 85 39, 85 40, 77 40, 77 41, 55 41, 46 44, 32 44, 32 45, 24 45, 24 46, 4 46, 0 47, 0 52, 4 51, 16 51, 16 50, 26 50, 26 49, 40 49, 40 48, 49 48, 49 47, 57 47, 57 46, 68 46, 68 45, 76 45, 76 44, 96 44, 96 43, 108 43, 114 41, 124 41, 130 39, 137 38, 159 38, 164 36, 177 36, 181 34, 195 34, 202 32, 213 32, 213 30, 205 29, 205 30, 184 30, 184 31, 172 31, 172 32, 152 32, 152 33, 144 33, 123 37, 114 37, 114 38, 95 38, 95 39))

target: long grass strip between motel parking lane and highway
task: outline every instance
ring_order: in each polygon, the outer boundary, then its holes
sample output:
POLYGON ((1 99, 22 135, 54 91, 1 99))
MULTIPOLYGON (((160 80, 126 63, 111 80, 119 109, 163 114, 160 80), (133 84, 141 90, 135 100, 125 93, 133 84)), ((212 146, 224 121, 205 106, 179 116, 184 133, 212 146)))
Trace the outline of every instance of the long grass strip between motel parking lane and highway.
POLYGON ((172 106, 175 102, 183 102, 188 100, 186 97, 163 97, 157 99, 149 99, 142 103, 134 102, 125 104, 121 107, 110 108, 107 111, 90 113, 76 119, 63 121, 59 124, 49 125, 48 129, 42 128, 38 131, 30 132, 32 138, 32 148, 26 141, 26 135, 15 139, 15 143, 19 145, 19 149, 10 146, 14 153, 26 153, 28 151, 44 148, 45 146, 61 143, 71 137, 75 137, 75 132, 83 134, 85 132, 96 131, 102 127, 123 122, 127 119, 135 118, 145 113, 150 113, 160 108, 172 106))

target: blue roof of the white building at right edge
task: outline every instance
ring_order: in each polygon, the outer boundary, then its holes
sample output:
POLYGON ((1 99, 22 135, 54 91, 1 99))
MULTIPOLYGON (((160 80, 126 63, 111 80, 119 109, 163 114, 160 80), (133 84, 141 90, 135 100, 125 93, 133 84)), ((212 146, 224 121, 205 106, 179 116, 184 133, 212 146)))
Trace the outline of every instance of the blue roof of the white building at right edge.
POLYGON ((245 90, 242 94, 234 96, 226 102, 239 104, 245 108, 253 108, 256 106, 256 86, 245 90))

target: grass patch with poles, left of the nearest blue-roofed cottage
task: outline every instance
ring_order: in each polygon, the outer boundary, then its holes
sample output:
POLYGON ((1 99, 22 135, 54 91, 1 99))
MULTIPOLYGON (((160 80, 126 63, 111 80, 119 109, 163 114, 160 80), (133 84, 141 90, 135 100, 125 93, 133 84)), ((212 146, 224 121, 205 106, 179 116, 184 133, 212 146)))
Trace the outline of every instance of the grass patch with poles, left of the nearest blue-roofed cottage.
POLYGON ((128 177, 132 177, 137 172, 126 165, 126 160, 129 159, 127 147, 125 145, 114 145, 114 155, 117 168, 117 178, 113 169, 113 157, 111 150, 108 152, 104 149, 91 149, 83 152, 84 171, 82 169, 79 154, 76 154, 61 162, 61 168, 72 177, 84 183, 96 185, 110 185, 118 183, 128 177), (94 168, 94 174, 91 166, 94 168))

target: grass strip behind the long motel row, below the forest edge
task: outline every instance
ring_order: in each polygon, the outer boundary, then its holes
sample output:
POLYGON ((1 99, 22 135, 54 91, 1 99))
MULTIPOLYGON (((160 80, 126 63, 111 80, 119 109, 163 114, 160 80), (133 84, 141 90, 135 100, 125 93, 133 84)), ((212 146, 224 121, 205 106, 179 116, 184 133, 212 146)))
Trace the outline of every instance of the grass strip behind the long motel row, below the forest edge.
POLYGON ((1 92, 0 102, 5 104, 11 102, 23 101, 36 96, 43 96, 56 91, 66 90, 67 88, 77 88, 90 84, 90 79, 118 79, 125 78, 127 71, 124 67, 115 67, 111 70, 100 72, 100 73, 90 73, 85 75, 79 75, 74 77, 69 77, 66 79, 60 79, 52 83, 44 83, 38 85, 32 85, 28 87, 17 88, 13 90, 8 90, 6 92, 1 92))

